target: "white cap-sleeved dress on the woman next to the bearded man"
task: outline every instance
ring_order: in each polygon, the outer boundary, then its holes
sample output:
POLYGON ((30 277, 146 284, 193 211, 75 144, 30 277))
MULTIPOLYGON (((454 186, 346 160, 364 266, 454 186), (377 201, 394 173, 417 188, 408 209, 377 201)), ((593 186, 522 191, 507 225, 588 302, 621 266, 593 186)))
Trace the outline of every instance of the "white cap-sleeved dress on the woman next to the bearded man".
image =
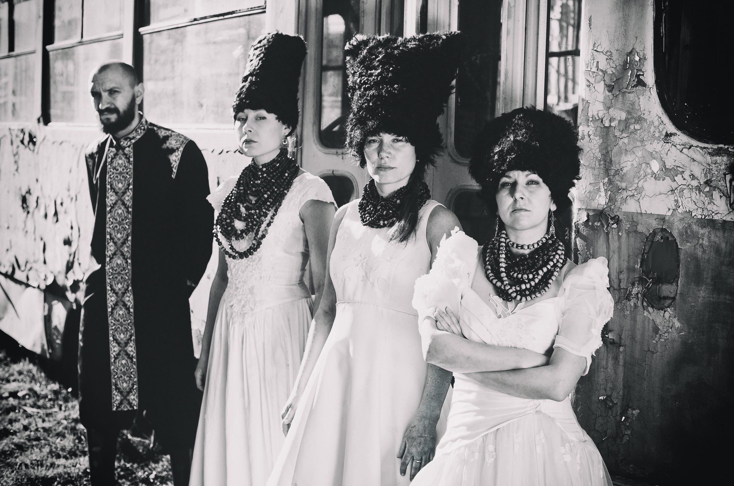
MULTIPOLYGON (((217 212, 236 180, 230 177, 208 197, 217 212)), ((293 181, 258 251, 227 258, 229 281, 211 339, 191 486, 263 486, 283 446, 280 412, 311 322, 308 240, 299 217, 310 199, 334 204, 324 180, 306 172, 293 181)), ((242 251, 251 241, 234 246, 242 251)))

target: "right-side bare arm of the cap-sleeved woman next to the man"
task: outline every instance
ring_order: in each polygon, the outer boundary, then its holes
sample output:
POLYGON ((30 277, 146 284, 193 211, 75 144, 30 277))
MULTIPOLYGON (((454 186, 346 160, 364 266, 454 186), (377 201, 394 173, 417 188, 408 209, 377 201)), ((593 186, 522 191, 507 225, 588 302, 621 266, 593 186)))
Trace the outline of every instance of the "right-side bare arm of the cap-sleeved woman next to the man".
POLYGON ((333 204, 316 199, 306 201, 300 210, 301 221, 306 231, 308 241, 308 259, 313 276, 313 290, 316 292, 316 300, 313 301, 313 309, 319 309, 321 294, 324 293, 324 278, 326 274, 326 256, 329 248, 329 233, 334 213, 333 204))

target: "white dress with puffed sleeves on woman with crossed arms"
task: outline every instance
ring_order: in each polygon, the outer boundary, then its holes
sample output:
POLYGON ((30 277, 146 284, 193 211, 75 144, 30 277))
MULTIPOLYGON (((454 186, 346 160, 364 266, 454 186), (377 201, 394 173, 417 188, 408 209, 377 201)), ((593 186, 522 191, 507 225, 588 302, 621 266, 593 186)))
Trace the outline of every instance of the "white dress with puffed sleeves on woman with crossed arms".
MULTIPOLYGON (((568 271, 556 297, 508 310, 497 296, 495 306, 487 306, 471 289, 474 273, 484 268, 480 250, 458 230, 443 240, 431 273, 415 283, 413 305, 421 318, 449 306, 467 339, 537 353, 562 347, 586 358, 586 374, 614 310, 606 259, 568 271)), ((528 400, 460 373, 454 378, 446 434, 413 486, 611 486, 569 397, 528 400)))

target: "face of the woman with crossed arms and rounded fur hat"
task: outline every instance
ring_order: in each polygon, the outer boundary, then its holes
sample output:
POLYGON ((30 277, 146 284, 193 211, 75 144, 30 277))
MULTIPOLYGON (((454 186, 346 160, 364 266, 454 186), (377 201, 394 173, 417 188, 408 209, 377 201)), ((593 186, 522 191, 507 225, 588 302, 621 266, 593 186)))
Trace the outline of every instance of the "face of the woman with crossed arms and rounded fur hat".
POLYGON ((548 221, 548 210, 556 210, 551 190, 538 174, 528 171, 509 171, 499 181, 497 210, 507 229, 515 232, 543 227, 548 221))

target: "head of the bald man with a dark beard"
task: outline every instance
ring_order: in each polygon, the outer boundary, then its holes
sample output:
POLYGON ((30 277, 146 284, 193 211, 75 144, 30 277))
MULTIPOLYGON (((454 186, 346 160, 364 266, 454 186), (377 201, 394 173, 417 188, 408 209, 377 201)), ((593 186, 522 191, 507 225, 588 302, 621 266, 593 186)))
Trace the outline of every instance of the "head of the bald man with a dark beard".
POLYGON ((133 122, 142 101, 142 84, 135 84, 123 70, 109 67, 92 76, 92 103, 104 133, 116 133, 133 122))

